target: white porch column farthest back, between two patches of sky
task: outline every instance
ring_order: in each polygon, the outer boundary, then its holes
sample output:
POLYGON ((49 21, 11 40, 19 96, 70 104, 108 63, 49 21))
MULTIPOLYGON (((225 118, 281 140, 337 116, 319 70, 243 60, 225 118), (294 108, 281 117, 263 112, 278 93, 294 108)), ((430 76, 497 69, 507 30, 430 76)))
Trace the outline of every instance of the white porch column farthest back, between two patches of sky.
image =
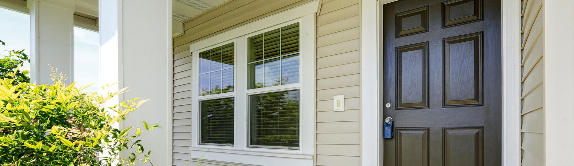
POLYGON ((33 84, 53 83, 48 65, 67 75, 65 83, 72 83, 73 2, 57 5, 44 0, 32 2, 30 81, 33 84))

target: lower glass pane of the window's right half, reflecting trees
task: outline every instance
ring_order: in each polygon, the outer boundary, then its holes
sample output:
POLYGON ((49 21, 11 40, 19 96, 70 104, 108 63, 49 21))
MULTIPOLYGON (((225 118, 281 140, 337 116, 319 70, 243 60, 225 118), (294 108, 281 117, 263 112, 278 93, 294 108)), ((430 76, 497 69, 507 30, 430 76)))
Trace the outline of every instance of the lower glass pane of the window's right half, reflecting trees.
POLYGON ((250 96, 250 142, 254 147, 299 146, 299 90, 250 96))

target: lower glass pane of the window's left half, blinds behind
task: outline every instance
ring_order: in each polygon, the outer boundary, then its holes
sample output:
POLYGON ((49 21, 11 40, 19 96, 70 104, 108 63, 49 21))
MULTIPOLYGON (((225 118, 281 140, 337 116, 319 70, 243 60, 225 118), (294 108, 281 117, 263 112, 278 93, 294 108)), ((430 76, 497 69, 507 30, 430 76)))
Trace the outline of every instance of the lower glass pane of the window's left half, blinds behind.
POLYGON ((201 143, 233 144, 234 98, 201 101, 201 143))

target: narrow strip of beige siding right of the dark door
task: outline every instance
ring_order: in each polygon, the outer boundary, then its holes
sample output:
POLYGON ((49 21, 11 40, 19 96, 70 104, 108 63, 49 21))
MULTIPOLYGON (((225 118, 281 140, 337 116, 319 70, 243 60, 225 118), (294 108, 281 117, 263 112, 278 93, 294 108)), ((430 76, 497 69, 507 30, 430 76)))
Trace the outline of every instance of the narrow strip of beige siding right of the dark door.
POLYGON ((544 163, 542 1, 522 1, 522 165, 544 163))

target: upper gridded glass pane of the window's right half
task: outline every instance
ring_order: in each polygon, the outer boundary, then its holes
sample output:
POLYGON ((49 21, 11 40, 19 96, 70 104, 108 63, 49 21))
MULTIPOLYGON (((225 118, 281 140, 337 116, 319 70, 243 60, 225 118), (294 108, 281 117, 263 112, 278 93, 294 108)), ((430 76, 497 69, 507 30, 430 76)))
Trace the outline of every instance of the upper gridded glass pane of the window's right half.
POLYGON ((299 24, 248 39, 249 88, 299 82, 299 24))

